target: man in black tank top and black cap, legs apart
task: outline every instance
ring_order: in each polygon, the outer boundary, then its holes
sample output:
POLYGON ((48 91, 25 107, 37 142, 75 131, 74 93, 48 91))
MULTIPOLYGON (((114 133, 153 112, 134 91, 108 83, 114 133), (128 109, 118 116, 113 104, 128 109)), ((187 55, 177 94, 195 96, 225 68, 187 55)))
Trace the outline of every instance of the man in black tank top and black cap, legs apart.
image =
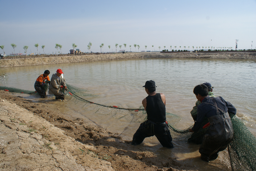
POLYGON ((147 81, 143 87, 145 87, 145 91, 148 94, 148 97, 142 100, 148 120, 140 124, 140 127, 133 135, 131 144, 138 145, 146 137, 156 135, 163 147, 172 148, 172 136, 166 122, 165 95, 156 93, 156 84, 152 80, 147 81))

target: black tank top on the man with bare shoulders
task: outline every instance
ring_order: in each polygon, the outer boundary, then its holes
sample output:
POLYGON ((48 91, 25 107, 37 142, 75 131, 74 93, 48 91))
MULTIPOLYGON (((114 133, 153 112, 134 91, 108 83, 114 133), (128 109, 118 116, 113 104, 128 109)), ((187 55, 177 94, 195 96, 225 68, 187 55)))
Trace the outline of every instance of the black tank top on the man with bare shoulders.
POLYGON ((156 93, 156 95, 148 95, 146 97, 147 106, 146 111, 148 115, 148 120, 160 123, 166 121, 165 116, 165 105, 161 99, 160 93, 156 93))

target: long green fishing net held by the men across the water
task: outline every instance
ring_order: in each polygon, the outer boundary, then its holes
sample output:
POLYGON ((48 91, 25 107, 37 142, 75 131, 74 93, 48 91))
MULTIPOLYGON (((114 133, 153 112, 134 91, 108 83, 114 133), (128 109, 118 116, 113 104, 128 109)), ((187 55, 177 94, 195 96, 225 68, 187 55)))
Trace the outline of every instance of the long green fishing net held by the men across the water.
MULTIPOLYGON (((7 89, 10 92, 16 93, 33 93, 12 87, 0 86, 0 89, 7 89)), ((63 89, 64 91, 64 89, 63 89)), ((147 115, 144 107, 138 109, 126 109, 117 106, 102 105, 89 101, 88 98, 97 97, 96 95, 86 93, 86 90, 79 87, 67 84, 65 91, 65 99, 74 101, 77 105, 83 107, 87 111, 93 111, 100 115, 111 115, 115 119, 124 118, 131 122, 142 123, 146 121, 147 115)), ((256 138, 244 125, 244 123, 236 115, 230 114, 232 125, 234 128, 234 138, 227 148, 227 153, 224 152, 224 161, 231 165, 234 171, 256 171, 256 138)), ((173 139, 187 141, 191 139, 200 139, 208 128, 202 127, 196 133, 190 133, 187 129, 176 129, 175 124, 181 120, 181 117, 172 113, 166 113, 166 120, 173 139)), ((202 124, 202 126, 205 123, 202 124)), ((193 126, 193 125, 192 125, 193 126)), ((192 127, 191 126, 191 127, 192 127)))

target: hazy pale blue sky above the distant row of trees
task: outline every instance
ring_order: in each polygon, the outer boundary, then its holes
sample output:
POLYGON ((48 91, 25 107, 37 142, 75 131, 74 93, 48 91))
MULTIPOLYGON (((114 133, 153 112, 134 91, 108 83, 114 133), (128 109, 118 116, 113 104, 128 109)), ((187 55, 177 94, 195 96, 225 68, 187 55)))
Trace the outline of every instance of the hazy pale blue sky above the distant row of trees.
POLYGON ((24 46, 35 54, 35 44, 40 54, 57 53, 55 44, 67 54, 73 43, 86 52, 89 42, 92 52, 234 50, 236 40, 238 49, 256 49, 256 0, 0 0, 0 6, 0 46, 7 55, 25 54, 24 46))

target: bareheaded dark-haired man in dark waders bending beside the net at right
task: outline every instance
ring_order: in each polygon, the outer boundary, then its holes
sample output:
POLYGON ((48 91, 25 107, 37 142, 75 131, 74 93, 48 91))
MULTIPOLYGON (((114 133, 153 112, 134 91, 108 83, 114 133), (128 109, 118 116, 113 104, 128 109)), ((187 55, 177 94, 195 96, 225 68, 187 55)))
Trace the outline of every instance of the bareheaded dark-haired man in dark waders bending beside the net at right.
POLYGON ((197 107, 197 119, 190 132, 198 131, 204 117, 208 118, 209 129, 206 131, 199 148, 203 161, 215 160, 218 153, 226 149, 233 139, 234 130, 228 113, 236 115, 236 108, 222 97, 210 97, 208 87, 196 85, 194 94, 201 104, 197 107))

